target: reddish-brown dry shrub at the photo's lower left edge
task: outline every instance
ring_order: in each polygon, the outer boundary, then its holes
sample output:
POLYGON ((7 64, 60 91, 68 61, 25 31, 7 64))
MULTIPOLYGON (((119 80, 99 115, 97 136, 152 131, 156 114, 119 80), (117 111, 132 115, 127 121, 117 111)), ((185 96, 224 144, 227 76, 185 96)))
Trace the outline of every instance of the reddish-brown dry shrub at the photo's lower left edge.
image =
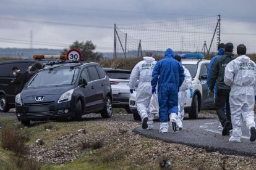
POLYGON ((12 127, 5 127, 1 134, 1 147, 5 150, 11 150, 17 155, 24 155, 27 153, 25 142, 29 140, 28 136, 23 136, 17 129, 12 127))

